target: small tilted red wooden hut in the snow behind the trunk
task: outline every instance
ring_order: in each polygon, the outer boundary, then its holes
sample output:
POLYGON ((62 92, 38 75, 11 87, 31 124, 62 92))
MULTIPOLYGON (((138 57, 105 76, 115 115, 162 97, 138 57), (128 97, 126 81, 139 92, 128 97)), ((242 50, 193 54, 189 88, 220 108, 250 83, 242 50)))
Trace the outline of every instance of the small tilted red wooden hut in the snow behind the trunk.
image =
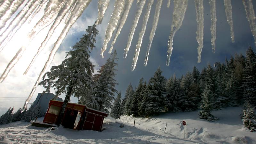
MULTIPOLYGON (((54 124, 62 104, 63 102, 51 100, 43 122, 54 124)), ((68 103, 61 125, 77 130, 101 131, 103 119, 107 116, 107 113, 88 108, 85 105, 68 103)))

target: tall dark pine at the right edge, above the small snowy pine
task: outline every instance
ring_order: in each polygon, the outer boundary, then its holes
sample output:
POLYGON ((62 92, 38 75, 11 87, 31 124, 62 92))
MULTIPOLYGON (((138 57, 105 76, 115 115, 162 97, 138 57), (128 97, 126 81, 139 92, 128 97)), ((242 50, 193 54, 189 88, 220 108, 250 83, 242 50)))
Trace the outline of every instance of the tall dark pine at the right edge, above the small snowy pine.
POLYGON ((244 99, 252 105, 256 106, 256 54, 252 47, 245 53, 245 68, 244 68, 244 99))

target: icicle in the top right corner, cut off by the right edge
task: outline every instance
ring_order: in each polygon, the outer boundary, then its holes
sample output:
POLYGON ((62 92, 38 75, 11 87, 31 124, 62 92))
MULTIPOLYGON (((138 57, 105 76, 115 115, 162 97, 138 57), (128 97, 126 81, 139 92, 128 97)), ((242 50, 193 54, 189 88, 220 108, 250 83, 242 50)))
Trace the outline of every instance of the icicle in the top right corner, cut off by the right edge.
POLYGON ((252 0, 242 0, 244 4, 244 10, 246 13, 246 17, 248 19, 252 36, 254 38, 254 43, 256 46, 256 19, 255 19, 255 13, 253 10, 252 0))

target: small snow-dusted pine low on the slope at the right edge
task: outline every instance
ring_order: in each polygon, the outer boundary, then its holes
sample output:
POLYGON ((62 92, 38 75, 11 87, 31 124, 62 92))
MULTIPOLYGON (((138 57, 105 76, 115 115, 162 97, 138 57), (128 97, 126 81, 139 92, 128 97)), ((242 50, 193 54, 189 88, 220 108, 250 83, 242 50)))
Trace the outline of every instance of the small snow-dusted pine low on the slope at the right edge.
POLYGON ((256 132, 256 115, 254 108, 249 102, 246 102, 246 105, 243 110, 242 121, 244 126, 251 130, 251 132, 256 132))

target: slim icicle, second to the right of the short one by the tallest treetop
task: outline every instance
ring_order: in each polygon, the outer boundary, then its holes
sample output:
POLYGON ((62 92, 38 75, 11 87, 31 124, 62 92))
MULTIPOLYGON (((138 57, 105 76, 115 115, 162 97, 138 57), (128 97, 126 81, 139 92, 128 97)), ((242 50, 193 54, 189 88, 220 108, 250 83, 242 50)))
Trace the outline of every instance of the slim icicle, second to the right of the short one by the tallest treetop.
POLYGON ((118 27, 117 27, 116 35, 114 37, 114 40, 111 43, 111 47, 110 47, 109 52, 108 52, 109 54, 112 53, 112 49, 113 49, 113 47, 114 47, 114 45, 116 43, 116 39, 117 39, 118 35, 120 34, 120 32, 121 32, 121 30, 122 30, 122 28, 124 26, 126 18, 127 18, 128 14, 129 14, 129 11, 131 9, 132 3, 133 3, 133 0, 126 0, 125 1, 124 13, 123 13, 123 16, 122 16, 122 18, 120 20, 120 23, 119 23, 118 27))

